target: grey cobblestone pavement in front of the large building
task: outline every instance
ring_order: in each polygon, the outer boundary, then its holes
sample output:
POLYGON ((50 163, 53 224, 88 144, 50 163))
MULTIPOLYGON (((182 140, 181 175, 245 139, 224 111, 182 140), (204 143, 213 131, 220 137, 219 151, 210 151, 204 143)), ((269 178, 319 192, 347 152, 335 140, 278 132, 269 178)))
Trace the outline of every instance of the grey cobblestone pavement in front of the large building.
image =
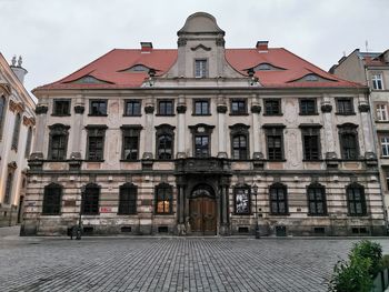
POLYGON ((357 241, 0 236, 0 291, 326 291, 357 241))

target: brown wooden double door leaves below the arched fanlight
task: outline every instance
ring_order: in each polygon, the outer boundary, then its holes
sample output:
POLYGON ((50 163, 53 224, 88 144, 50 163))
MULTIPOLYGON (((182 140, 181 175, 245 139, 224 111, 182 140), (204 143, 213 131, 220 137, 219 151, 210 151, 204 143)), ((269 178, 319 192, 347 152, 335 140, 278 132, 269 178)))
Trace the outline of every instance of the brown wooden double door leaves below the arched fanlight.
POLYGON ((217 225, 215 199, 200 197, 189 202, 190 226, 193 234, 215 235, 217 225))

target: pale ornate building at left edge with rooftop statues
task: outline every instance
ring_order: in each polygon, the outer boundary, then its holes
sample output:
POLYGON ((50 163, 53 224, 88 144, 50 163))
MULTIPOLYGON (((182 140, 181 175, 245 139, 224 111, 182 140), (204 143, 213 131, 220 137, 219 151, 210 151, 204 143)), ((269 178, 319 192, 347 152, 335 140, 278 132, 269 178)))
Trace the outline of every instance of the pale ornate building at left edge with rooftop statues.
POLYGON ((27 70, 0 53, 0 226, 20 223, 34 132, 36 103, 23 87, 27 70))

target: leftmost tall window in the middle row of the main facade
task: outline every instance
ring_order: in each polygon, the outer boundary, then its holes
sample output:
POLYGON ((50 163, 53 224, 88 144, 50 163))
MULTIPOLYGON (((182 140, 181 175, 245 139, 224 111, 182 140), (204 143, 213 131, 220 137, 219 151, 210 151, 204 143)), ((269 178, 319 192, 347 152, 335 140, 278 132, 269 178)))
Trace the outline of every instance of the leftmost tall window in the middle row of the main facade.
POLYGON ((49 159, 51 160, 64 160, 67 159, 68 148, 68 130, 69 125, 56 123, 50 125, 49 137, 49 159))

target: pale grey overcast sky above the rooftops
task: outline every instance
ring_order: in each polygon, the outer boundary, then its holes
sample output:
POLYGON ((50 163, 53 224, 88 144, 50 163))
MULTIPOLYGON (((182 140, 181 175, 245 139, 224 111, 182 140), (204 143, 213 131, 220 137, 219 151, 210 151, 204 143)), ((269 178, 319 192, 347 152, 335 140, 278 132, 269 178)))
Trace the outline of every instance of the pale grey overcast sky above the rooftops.
POLYGON ((26 88, 57 81, 113 48, 177 48, 191 13, 216 17, 226 48, 258 40, 325 70, 357 48, 389 49, 389 0, 0 0, 0 51, 23 57, 26 88))

